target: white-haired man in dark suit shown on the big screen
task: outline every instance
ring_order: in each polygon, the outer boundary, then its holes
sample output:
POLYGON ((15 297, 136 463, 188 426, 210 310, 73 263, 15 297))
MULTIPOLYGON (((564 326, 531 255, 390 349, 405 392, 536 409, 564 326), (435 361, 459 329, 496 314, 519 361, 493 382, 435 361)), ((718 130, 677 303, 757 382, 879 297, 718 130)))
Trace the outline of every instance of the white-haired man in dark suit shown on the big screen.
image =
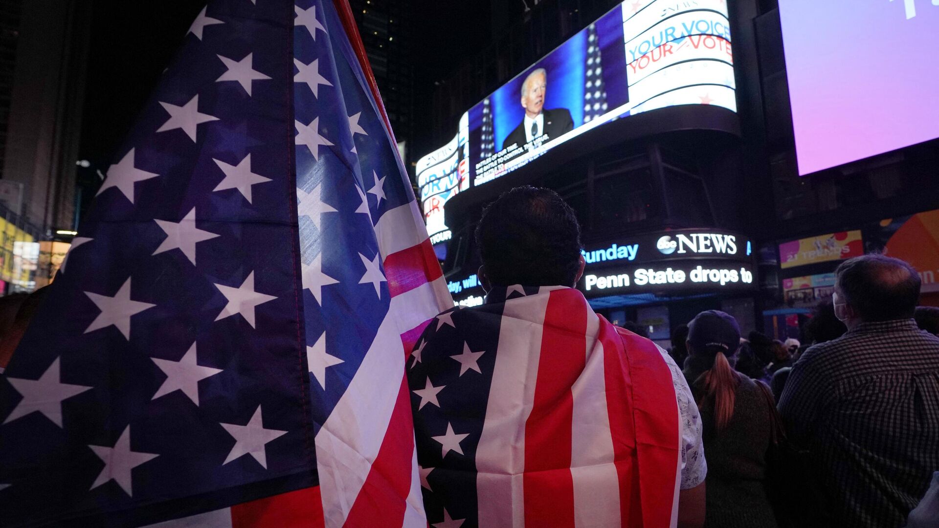
POLYGON ((531 71, 522 83, 522 108, 525 117, 518 123, 516 130, 506 136, 502 149, 515 145, 525 145, 536 137, 546 135, 547 139, 559 137, 564 132, 574 130, 574 119, 566 108, 545 108, 547 91, 547 72, 544 68, 531 71))

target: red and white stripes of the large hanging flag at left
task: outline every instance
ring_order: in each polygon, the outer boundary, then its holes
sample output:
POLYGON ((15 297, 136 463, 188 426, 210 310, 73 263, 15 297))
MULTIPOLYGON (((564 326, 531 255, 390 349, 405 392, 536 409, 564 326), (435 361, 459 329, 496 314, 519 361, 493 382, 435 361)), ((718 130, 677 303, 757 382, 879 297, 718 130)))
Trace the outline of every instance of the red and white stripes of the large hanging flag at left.
POLYGON ((405 360, 423 327, 453 300, 416 202, 387 211, 376 236, 391 306, 316 434, 327 527, 426 526, 405 360))

